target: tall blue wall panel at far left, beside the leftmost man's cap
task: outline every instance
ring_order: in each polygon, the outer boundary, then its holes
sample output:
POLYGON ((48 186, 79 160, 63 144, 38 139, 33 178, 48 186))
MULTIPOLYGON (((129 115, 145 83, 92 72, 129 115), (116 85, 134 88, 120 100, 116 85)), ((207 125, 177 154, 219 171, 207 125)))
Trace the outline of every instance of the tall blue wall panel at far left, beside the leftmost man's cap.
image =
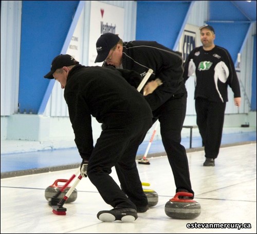
POLYGON ((50 80, 53 57, 60 54, 80 1, 22 1, 19 104, 38 113, 50 80))

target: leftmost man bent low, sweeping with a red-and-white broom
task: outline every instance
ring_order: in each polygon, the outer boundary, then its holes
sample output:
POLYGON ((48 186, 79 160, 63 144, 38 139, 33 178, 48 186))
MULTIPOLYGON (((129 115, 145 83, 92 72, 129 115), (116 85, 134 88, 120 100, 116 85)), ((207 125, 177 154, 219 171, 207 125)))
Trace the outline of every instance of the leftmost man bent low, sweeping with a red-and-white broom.
POLYGON ((85 67, 72 56, 61 54, 54 58, 50 72, 44 76, 59 81, 65 88, 75 142, 83 159, 81 175, 88 175, 103 200, 114 207, 98 212, 97 217, 103 222, 132 222, 137 219, 137 212, 148 210, 135 159, 152 126, 152 111, 121 72, 126 77, 140 77, 132 71, 85 67), (95 146, 91 115, 104 124, 95 146), (122 190, 109 175, 113 166, 122 190))

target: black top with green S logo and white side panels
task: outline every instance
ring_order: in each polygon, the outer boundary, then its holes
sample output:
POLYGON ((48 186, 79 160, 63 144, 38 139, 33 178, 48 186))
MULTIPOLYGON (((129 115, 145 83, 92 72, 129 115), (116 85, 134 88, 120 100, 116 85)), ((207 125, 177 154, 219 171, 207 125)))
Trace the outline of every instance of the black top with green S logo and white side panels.
POLYGON ((194 98, 203 97, 212 102, 228 102, 228 85, 234 97, 240 97, 240 85, 229 52, 219 46, 209 51, 203 46, 193 49, 186 62, 184 81, 195 79, 194 98))

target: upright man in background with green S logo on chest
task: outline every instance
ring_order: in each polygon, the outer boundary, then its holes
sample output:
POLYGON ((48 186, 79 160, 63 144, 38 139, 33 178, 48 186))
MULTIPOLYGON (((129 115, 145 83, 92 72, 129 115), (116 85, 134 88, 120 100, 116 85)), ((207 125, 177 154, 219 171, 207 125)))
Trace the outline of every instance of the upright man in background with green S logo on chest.
POLYGON ((222 131, 228 85, 234 93, 234 104, 240 106, 240 85, 229 52, 214 45, 215 32, 212 26, 200 27, 203 46, 193 49, 185 63, 184 80, 195 76, 195 110, 197 126, 205 147, 204 166, 215 166, 222 131))

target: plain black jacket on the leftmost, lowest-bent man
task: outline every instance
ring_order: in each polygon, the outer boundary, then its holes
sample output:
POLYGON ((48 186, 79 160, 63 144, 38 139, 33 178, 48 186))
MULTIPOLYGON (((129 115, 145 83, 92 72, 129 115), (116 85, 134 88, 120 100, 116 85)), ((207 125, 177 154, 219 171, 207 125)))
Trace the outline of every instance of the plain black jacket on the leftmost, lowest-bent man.
MULTIPOLYGON (((122 72, 126 77, 135 75, 131 71, 122 72)), ((94 148, 91 115, 107 127, 152 118, 151 108, 143 95, 116 69, 76 65, 68 74, 64 98, 75 143, 81 157, 87 160, 94 148)))

